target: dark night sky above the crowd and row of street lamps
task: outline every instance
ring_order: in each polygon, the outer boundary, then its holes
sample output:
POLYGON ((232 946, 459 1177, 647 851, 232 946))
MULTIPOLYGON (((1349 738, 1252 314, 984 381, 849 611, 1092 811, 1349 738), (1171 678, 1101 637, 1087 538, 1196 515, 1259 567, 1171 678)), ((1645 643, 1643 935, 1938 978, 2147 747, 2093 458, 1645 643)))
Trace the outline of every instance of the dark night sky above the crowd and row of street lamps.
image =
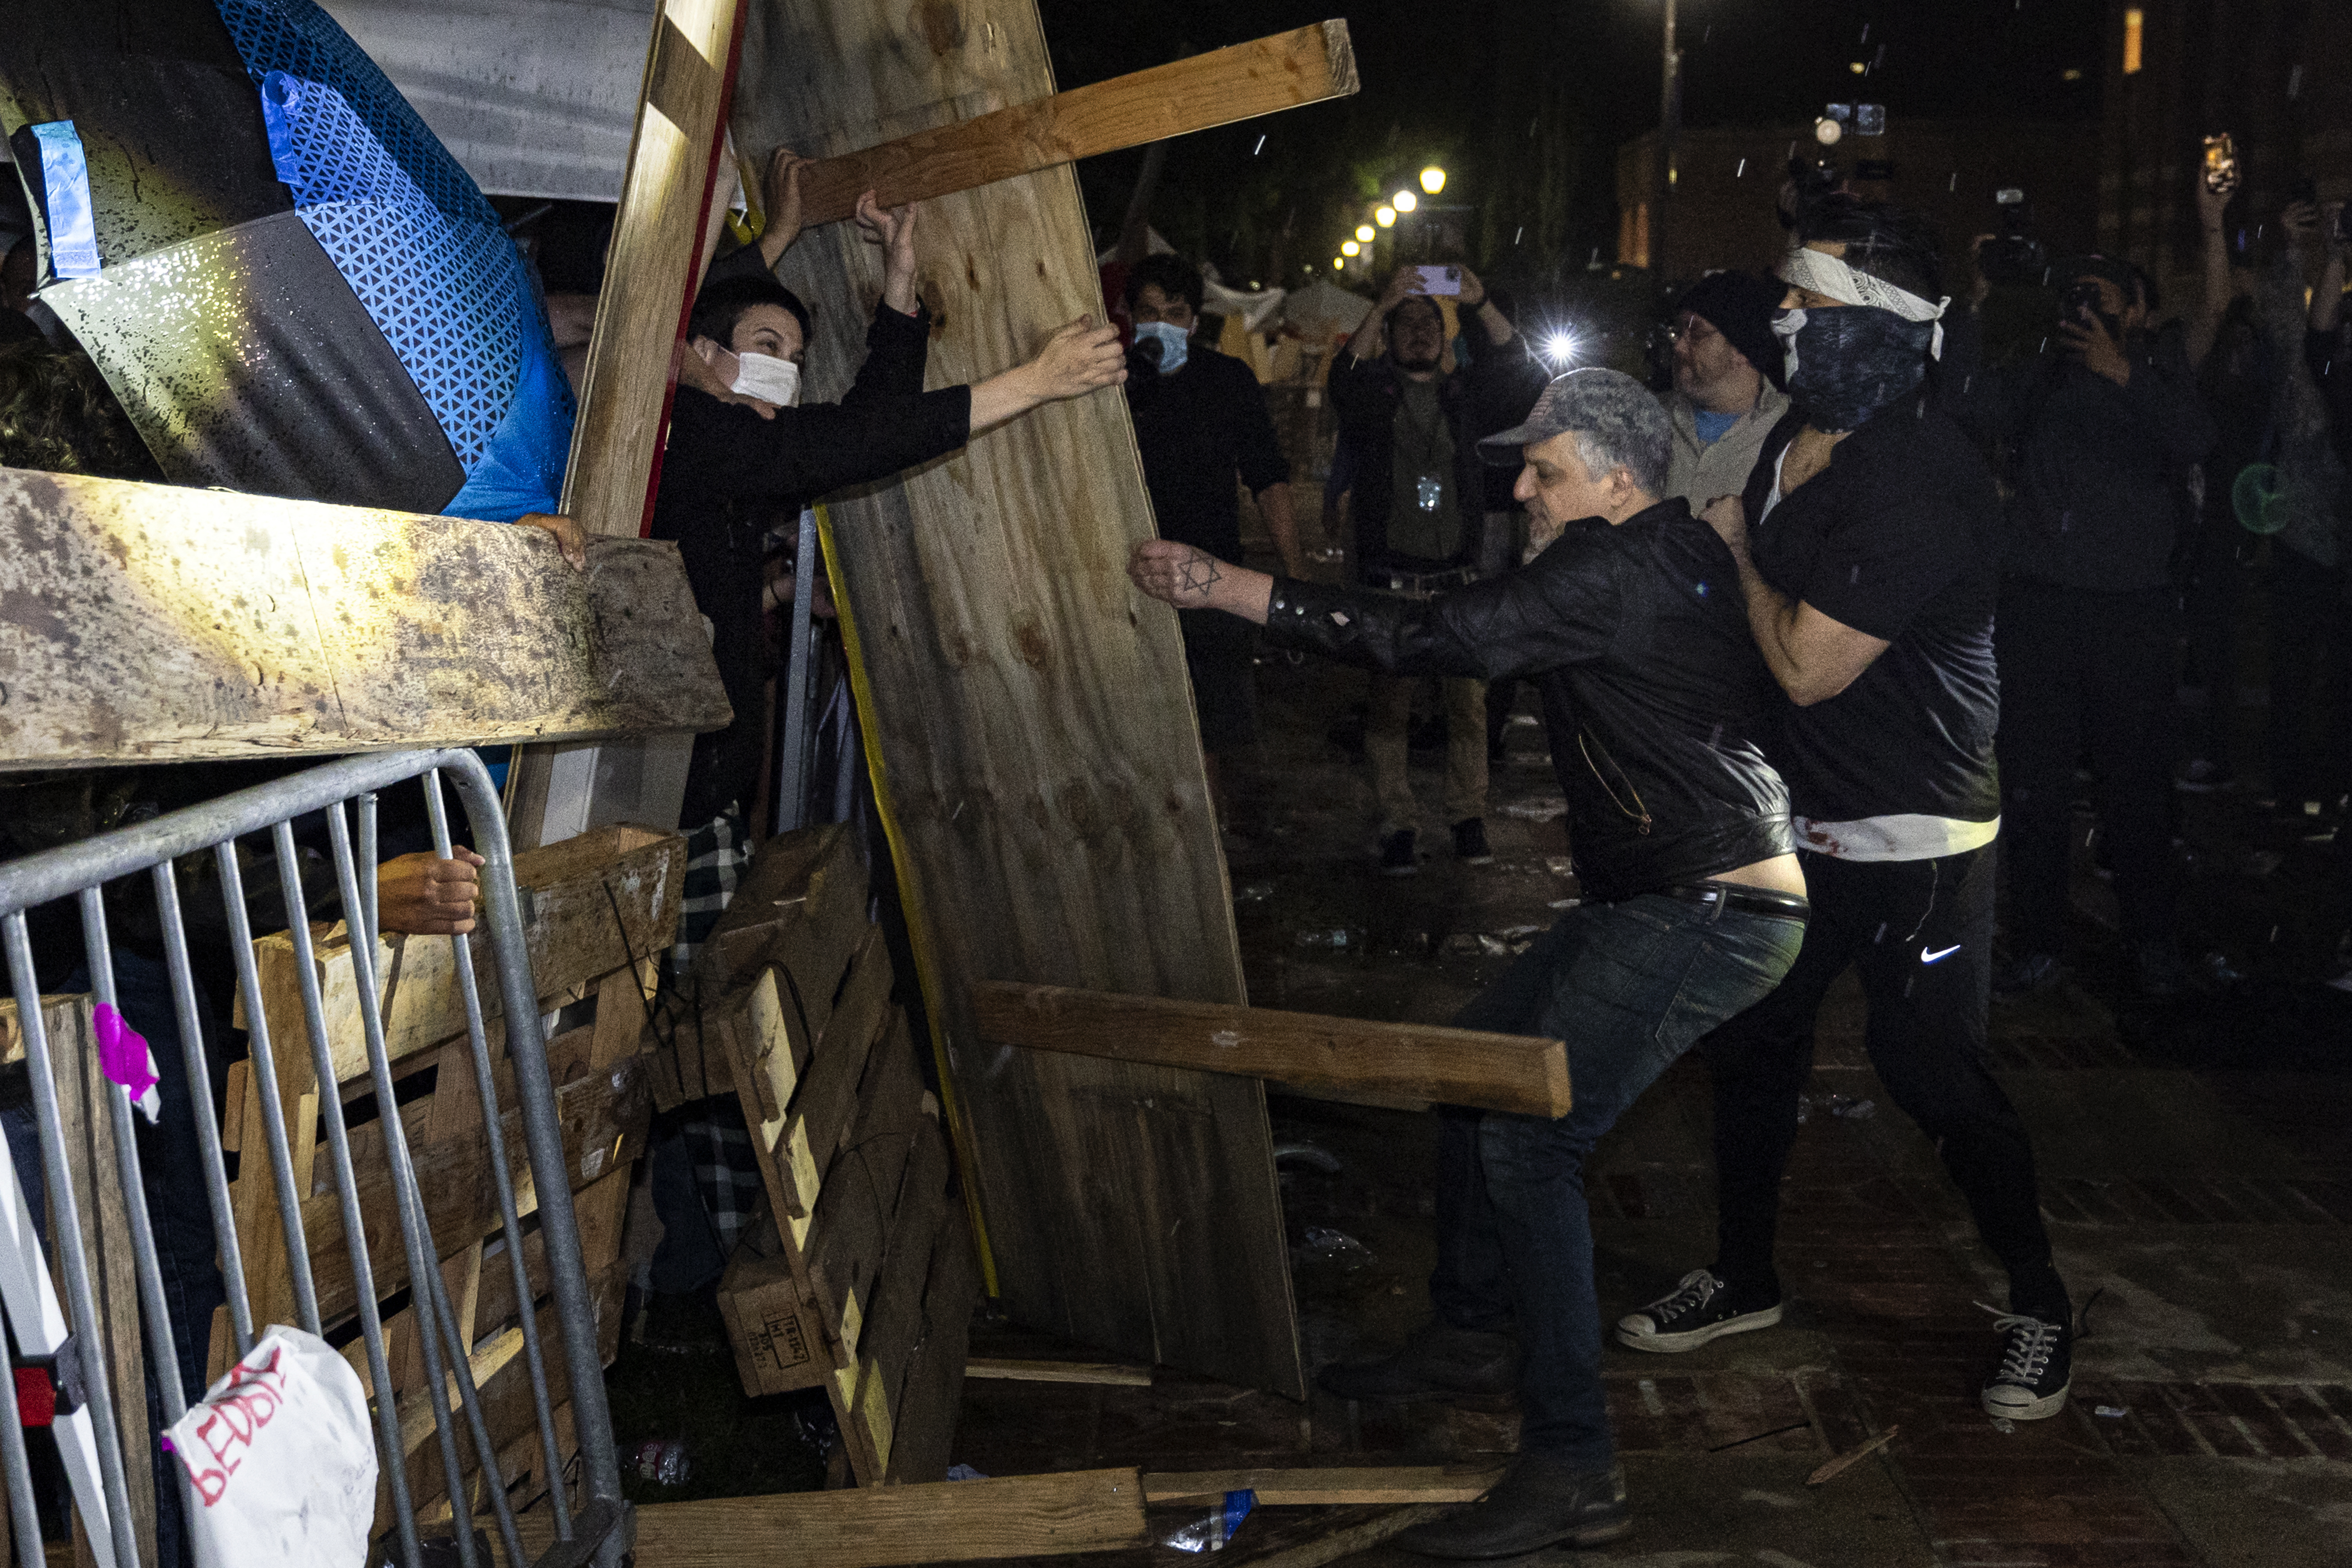
MULTIPOLYGON (((1277 209, 1301 212, 1294 259, 1322 252, 1338 209, 1369 195, 1383 162, 1444 158, 1463 172, 1446 200, 1477 200, 1482 155, 1501 162, 1496 120, 1529 120, 1524 94, 1538 87, 1515 89, 1515 78, 1538 78, 1552 92, 1543 113, 1571 122, 1569 244, 1611 242, 1616 146, 1658 115, 1661 0, 1040 0, 1040 12, 1061 87, 1348 19, 1362 94, 1190 136, 1171 153, 1152 219, 1178 247, 1225 256, 1228 270, 1265 263, 1277 209), (1251 158, 1261 132, 1265 155, 1251 158)), ((1860 99, 1886 103, 1889 118, 2096 120, 2100 26, 2100 0, 1682 0, 1684 118, 1788 122, 1860 99), (1853 61, 1870 75, 1856 78, 1853 61), (2067 68, 2082 78, 2067 82, 2067 68)), ((1098 228, 1117 223, 1136 167, 1136 153, 1080 167, 1098 228)))

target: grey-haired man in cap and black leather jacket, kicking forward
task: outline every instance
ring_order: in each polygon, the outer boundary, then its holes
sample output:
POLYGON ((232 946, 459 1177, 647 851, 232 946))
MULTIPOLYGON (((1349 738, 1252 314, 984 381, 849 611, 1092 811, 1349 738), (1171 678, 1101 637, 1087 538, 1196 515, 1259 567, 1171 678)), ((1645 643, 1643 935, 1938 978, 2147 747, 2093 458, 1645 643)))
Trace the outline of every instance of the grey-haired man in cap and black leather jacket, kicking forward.
POLYGON ((1397 1537, 1430 1556, 1515 1556, 1630 1528, 1602 1396, 1585 1157, 1682 1051, 1764 997, 1804 938, 1788 792, 1759 743, 1771 675, 1731 552, 1686 503, 1658 501, 1668 442, 1665 411, 1632 376, 1552 381, 1526 423, 1482 451, 1524 458, 1512 494, 1538 538, 1559 538, 1524 571, 1439 599, 1270 578, 1174 541, 1136 545, 1129 564, 1143 592, 1258 621, 1277 644, 1543 691, 1585 900, 1456 1023, 1564 1039, 1576 1107, 1444 1112, 1437 1316, 1395 1356, 1322 1373, 1324 1389, 1378 1401, 1517 1382, 1510 1476, 1397 1537))

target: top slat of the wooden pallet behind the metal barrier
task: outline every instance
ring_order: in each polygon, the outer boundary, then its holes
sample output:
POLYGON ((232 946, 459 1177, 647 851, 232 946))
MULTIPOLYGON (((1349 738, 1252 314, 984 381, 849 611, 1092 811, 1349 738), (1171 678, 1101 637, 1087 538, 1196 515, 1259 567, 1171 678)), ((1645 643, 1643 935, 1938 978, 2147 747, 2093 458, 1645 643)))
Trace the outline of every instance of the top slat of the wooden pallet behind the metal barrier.
MULTIPOLYGON (((515 886, 527 910, 522 943, 532 959, 532 980, 543 999, 553 999, 621 964, 668 952, 677 940, 677 905, 687 886, 687 842, 652 827, 597 827, 515 856, 515 886)), ((334 1074, 336 1081, 348 1081, 367 1072, 350 931, 315 924, 310 936, 334 1074)), ((489 1037, 496 1046, 506 1037, 506 1006, 499 987, 489 983, 496 973, 489 933, 475 931, 470 943, 475 994, 482 999, 482 1018, 492 1025, 489 1037)), ((292 966, 292 952, 294 938, 285 931, 254 940, 254 954, 263 966, 292 966)), ((383 987, 383 1046, 395 1063, 466 1030, 456 954, 447 936, 379 938, 376 978, 383 987)), ((301 1056, 308 1067, 308 1027, 292 980, 282 994, 270 992, 266 1006, 280 1067, 287 1051, 301 1056)), ((245 1023, 242 1001, 238 1023, 245 1023)))

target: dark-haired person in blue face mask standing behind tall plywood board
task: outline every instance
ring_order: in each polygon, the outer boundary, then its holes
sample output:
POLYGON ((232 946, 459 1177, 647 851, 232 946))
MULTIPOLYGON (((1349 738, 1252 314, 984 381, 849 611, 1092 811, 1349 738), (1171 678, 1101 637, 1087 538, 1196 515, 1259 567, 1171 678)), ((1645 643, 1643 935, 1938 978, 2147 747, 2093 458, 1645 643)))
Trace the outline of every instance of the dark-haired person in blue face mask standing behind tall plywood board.
MULTIPOLYGON (((1265 411, 1258 376, 1230 355, 1192 341, 1202 280, 1183 256, 1145 256, 1127 273, 1127 411, 1136 421, 1143 484, 1160 538, 1178 538, 1218 559, 1242 559, 1242 503, 1249 487, 1289 576, 1305 576, 1291 515, 1291 461, 1265 411)), ((1192 675, 1209 797, 1230 823, 1223 757, 1258 738, 1256 637, 1232 616, 1183 611, 1183 661, 1192 675)))

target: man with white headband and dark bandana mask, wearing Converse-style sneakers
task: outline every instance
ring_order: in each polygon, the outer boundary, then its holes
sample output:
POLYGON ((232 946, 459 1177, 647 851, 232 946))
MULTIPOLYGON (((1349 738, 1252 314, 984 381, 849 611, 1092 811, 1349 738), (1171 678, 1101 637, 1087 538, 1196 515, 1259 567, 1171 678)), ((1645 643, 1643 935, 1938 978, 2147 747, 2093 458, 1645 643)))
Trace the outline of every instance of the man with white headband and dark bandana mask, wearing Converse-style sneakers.
POLYGON ((1926 386, 1945 308, 1926 223, 1832 195, 1797 240, 1773 322, 1795 409, 1745 494, 1705 520, 1731 545, 1750 630, 1788 696, 1766 755, 1788 780, 1813 919, 1778 990, 1700 1046, 1715 1074, 1715 1262, 1625 1316, 1618 1342, 1684 1352, 1780 1321, 1773 1232, 1813 1016, 1858 966, 1870 1065, 1936 1140, 2009 1269, 1983 1406, 2039 1420, 2065 1406, 2072 1302, 2032 1143, 1985 1070, 1999 494, 1926 386))

